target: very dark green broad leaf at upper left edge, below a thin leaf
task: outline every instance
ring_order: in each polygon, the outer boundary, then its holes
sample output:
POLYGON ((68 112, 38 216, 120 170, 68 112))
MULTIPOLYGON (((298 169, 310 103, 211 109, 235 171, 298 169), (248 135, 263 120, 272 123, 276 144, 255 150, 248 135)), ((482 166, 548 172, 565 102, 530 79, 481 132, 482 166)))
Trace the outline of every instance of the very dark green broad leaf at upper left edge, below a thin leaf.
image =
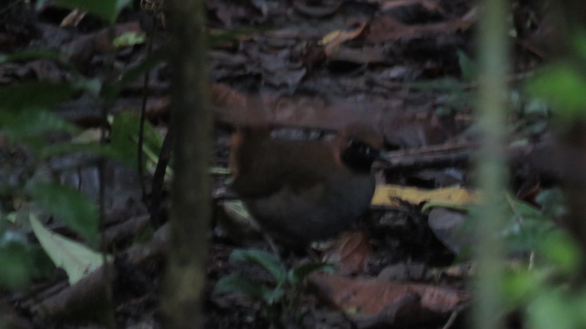
POLYGON ((23 109, 51 109, 60 102, 70 100, 77 87, 70 83, 35 81, 11 84, 0 88, 0 111, 23 109))

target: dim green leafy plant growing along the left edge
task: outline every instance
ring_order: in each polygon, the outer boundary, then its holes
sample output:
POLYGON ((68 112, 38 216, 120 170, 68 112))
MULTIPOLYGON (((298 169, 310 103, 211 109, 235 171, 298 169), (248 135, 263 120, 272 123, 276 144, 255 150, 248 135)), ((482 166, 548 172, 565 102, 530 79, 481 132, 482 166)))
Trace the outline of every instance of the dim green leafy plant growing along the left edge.
MULTIPOLYGON (((43 2, 38 1, 37 5, 43 2)), ((56 3, 66 8, 84 9, 113 26, 118 14, 131 1, 59 0, 56 3)), ((43 211, 76 232, 87 245, 92 248, 98 245, 99 215, 95 200, 73 186, 60 183, 57 179, 59 172, 46 169, 47 160, 73 153, 86 153, 93 155, 88 157, 90 160, 87 163, 72 163, 70 166, 95 165, 103 158, 114 159, 131 167, 137 166, 138 138, 132 132, 138 131, 138 118, 127 114, 116 115, 110 129, 110 143, 96 139, 81 141, 77 138, 83 133, 81 129, 57 116, 52 109, 82 93, 90 95, 96 104, 103 104, 103 108, 107 108, 107 104, 111 104, 125 85, 135 81, 163 58, 162 53, 154 53, 138 65, 121 71, 116 75, 117 78, 112 74, 109 75, 111 77, 90 78, 84 77, 71 64, 66 52, 25 49, 9 54, 0 53, 0 65, 45 59, 54 61, 70 73, 70 78, 59 83, 24 81, 0 88, 0 139, 4 142, 3 148, 6 154, 23 150, 22 156, 27 158, 21 165, 11 165, 6 160, 0 164, 0 196, 4 200, 19 200, 18 203, 13 202, 14 211, 5 204, 0 209, 0 286, 25 289, 31 280, 45 276, 51 269, 44 265, 46 256, 38 256, 38 246, 23 238, 21 229, 29 225, 26 220, 29 211, 30 214, 43 211), (53 139, 52 136, 60 137, 53 139), (73 139, 64 141, 64 136, 73 139), (19 167, 15 169, 16 166, 19 167), (11 180, 11 176, 18 178, 11 180)), ((146 128, 145 143, 145 152, 151 151, 152 154, 156 154, 162 143, 161 136, 151 126, 146 128)), ((144 164, 147 164, 146 160, 144 164)))

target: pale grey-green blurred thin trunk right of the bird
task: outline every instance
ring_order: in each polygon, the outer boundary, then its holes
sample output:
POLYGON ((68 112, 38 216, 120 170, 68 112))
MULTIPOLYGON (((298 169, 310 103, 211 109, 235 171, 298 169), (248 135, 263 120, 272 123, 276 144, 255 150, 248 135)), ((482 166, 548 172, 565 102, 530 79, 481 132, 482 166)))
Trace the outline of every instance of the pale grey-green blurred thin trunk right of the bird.
POLYGON ((480 64, 478 112, 482 127, 479 153, 479 183, 485 191, 485 203, 478 220, 476 251, 478 277, 474 308, 475 328, 502 326, 502 246, 496 232, 506 215, 504 193, 505 118, 507 74, 507 12, 505 0, 485 0, 481 4, 478 58, 480 64))

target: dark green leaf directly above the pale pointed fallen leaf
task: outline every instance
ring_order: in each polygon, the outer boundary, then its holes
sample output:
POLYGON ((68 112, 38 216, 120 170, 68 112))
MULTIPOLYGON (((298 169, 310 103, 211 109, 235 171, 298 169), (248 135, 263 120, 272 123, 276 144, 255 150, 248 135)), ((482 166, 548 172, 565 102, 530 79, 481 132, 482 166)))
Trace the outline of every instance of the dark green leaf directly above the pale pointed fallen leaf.
POLYGON ((89 197, 72 187, 54 183, 29 183, 26 191, 33 201, 62 220, 90 245, 96 244, 98 209, 89 197))

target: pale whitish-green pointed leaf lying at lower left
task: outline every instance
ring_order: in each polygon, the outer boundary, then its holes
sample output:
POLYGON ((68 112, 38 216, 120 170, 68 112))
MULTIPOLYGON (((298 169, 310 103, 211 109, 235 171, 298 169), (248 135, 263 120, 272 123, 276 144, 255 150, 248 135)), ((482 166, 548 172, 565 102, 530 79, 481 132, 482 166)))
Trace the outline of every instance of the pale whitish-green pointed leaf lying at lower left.
MULTIPOLYGON (((103 265, 103 257, 100 253, 87 248, 79 242, 72 241, 49 231, 40 221, 31 214, 30 226, 39 239, 43 250, 49 255, 55 266, 63 268, 69 277, 69 284, 73 285, 83 279, 94 270, 103 265)), ((111 256, 108 255, 108 260, 111 256)))

